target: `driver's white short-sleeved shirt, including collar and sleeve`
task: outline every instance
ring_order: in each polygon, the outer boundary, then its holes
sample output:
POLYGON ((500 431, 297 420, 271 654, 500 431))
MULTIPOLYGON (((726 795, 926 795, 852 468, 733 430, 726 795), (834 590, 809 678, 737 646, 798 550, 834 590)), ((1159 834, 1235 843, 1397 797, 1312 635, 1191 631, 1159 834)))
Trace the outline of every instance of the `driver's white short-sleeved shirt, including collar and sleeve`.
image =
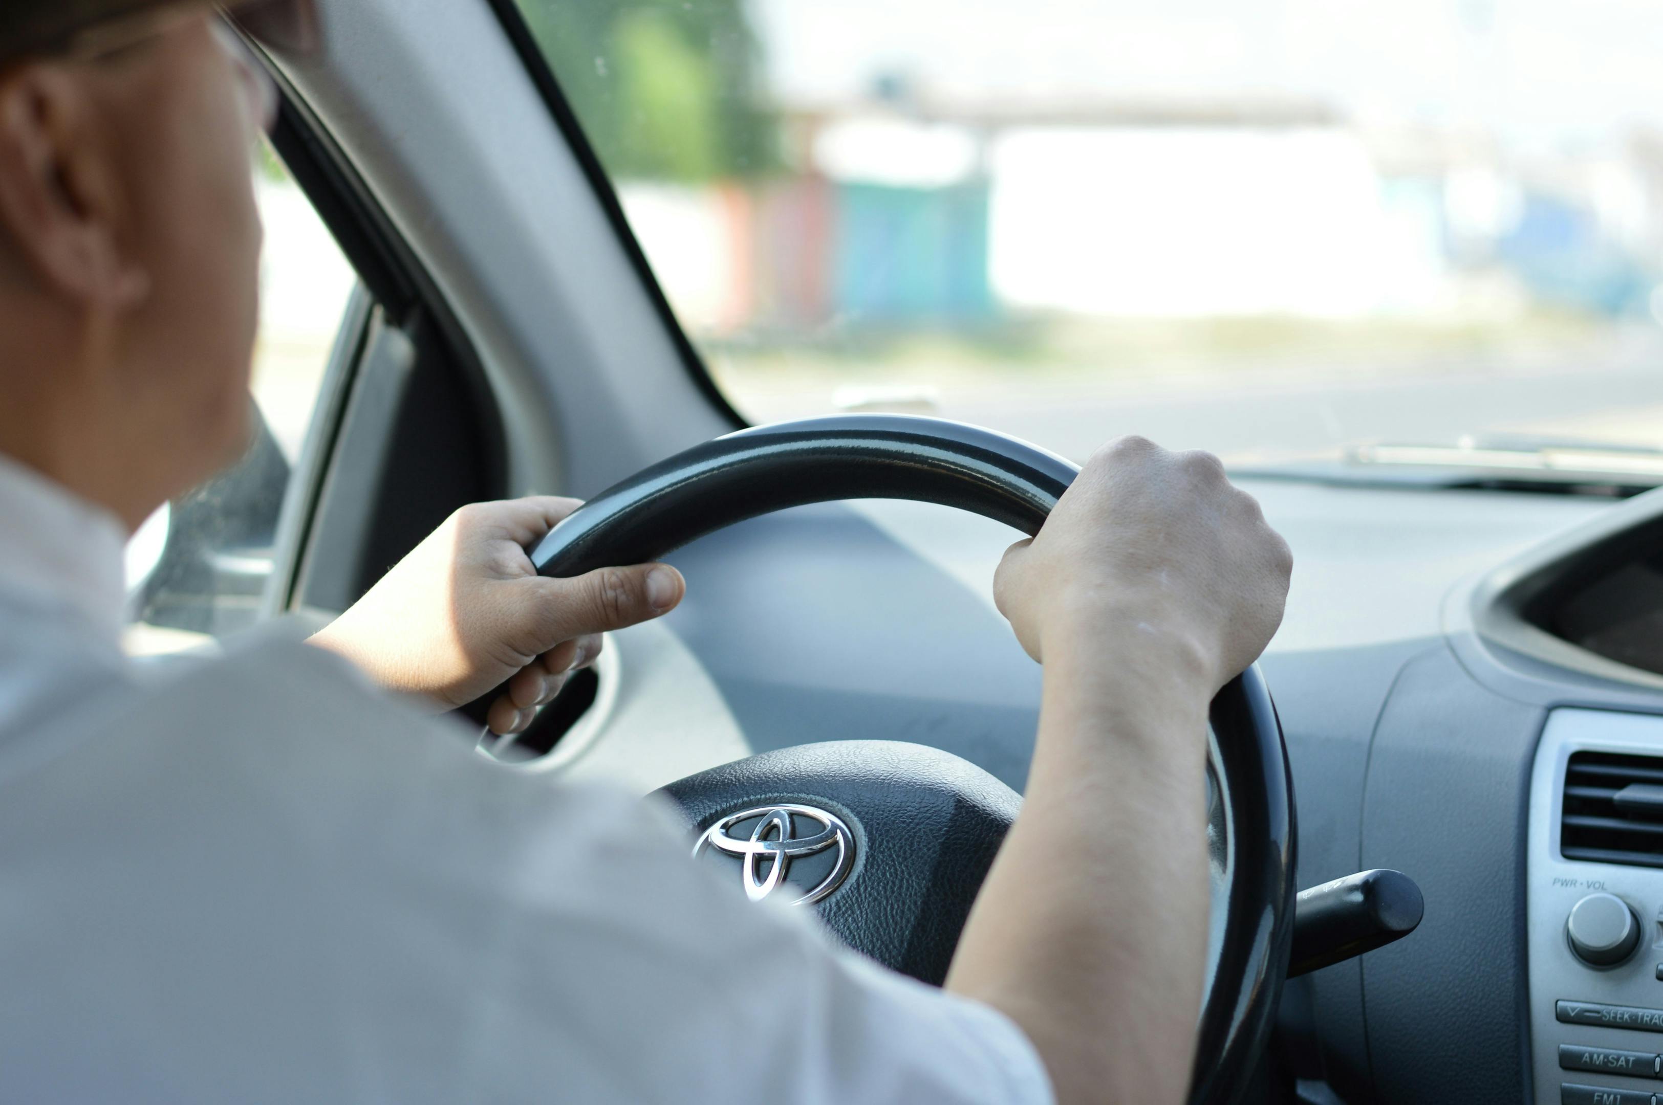
POLYGON ((998 1012, 321 650, 140 680, 115 520, 3 459, 0 518, 0 1100, 1051 1100, 998 1012))

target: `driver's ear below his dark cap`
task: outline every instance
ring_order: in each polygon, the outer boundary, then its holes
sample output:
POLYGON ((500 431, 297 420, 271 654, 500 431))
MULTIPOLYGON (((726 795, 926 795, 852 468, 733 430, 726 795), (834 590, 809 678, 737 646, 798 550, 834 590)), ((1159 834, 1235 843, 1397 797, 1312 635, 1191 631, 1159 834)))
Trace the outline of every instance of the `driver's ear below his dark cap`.
POLYGON ((108 312, 150 292, 121 246, 115 161, 85 75, 53 63, 0 76, 0 228, 50 291, 108 312))

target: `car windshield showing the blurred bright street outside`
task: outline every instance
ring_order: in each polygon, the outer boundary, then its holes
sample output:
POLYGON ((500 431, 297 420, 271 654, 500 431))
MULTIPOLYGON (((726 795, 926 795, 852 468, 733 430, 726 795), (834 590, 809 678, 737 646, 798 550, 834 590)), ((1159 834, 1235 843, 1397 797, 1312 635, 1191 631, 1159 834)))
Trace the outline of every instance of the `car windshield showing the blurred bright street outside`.
POLYGON ((1653 0, 519 3, 752 420, 1663 447, 1653 0))

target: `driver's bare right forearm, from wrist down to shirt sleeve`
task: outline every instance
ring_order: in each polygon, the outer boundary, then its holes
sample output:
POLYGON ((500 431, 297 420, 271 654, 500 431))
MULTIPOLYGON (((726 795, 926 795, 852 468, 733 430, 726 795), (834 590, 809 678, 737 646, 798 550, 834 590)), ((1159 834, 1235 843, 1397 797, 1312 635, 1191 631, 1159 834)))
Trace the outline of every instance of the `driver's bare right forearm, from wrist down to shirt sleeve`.
POLYGON ((1207 940, 1207 691, 1159 646, 1046 645, 1023 814, 948 989, 1016 1020, 1063 1105, 1184 1102, 1207 940))

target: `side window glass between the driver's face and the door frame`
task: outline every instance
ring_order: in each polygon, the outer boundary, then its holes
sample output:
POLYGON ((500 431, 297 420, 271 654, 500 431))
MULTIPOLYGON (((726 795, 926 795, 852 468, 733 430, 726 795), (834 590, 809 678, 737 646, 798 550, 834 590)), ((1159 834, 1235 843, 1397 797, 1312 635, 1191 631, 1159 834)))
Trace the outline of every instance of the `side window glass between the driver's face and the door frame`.
MULTIPOLYGON (((256 165, 266 224, 249 452, 231 470, 158 510, 128 543, 135 655, 176 651, 251 625, 269 598, 289 482, 316 432, 358 276, 281 160, 256 165)), ((293 508, 293 507, 291 507, 293 508)))

